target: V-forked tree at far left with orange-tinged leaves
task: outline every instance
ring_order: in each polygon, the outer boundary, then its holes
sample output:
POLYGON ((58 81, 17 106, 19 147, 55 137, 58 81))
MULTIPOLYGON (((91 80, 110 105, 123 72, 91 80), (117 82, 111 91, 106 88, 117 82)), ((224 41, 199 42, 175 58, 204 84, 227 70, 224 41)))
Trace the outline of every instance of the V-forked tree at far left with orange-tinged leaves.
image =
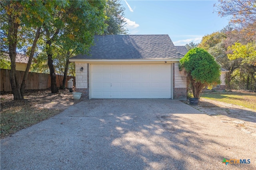
MULTIPOLYGON (((1 38, 4 40, 4 49, 8 51, 10 57, 10 83, 14 100, 23 99, 28 70, 34 55, 34 49, 40 35, 42 20, 47 12, 40 13, 40 1, 1 1, 1 38), (37 22, 35 22, 37 21, 37 22), (16 49, 18 43, 18 33, 20 27, 33 27, 36 29, 34 40, 30 48, 30 57, 27 68, 20 86, 18 76, 16 75, 16 49)), ((2 45, 2 44, 1 44, 2 45)))

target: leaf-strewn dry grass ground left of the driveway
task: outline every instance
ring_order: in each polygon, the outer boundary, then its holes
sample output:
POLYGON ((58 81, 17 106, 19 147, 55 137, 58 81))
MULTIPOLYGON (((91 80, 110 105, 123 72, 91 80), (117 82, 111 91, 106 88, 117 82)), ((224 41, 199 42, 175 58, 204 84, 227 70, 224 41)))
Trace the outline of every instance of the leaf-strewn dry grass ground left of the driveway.
POLYGON ((12 94, 1 95, 1 138, 48 119, 79 102, 67 89, 56 94, 50 90, 30 90, 24 98, 13 100, 12 94))

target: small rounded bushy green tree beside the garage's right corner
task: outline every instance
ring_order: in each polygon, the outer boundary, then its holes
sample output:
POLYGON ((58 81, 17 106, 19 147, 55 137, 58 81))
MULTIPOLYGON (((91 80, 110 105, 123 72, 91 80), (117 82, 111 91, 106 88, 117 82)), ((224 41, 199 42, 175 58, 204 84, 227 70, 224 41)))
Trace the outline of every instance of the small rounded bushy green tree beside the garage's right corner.
POLYGON ((220 83, 220 65, 202 48, 194 48, 180 60, 185 68, 194 98, 199 98, 202 89, 220 83))

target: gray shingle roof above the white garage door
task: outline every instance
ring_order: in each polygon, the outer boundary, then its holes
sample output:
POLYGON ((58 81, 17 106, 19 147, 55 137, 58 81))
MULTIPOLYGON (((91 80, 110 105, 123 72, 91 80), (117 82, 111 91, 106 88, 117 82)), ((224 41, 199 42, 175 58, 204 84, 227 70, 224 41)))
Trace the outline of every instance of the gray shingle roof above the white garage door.
POLYGON ((95 35, 90 55, 72 59, 180 59, 169 35, 95 35))

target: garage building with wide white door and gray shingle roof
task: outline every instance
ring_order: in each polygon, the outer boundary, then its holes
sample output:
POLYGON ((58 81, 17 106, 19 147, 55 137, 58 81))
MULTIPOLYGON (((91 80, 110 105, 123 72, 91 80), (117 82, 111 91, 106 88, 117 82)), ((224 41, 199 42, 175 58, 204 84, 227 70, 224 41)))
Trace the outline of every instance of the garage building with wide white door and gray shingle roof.
POLYGON ((168 35, 96 35, 89 55, 76 64, 82 98, 171 98, 186 100, 186 74, 168 35), (81 69, 83 68, 83 69, 81 69))

